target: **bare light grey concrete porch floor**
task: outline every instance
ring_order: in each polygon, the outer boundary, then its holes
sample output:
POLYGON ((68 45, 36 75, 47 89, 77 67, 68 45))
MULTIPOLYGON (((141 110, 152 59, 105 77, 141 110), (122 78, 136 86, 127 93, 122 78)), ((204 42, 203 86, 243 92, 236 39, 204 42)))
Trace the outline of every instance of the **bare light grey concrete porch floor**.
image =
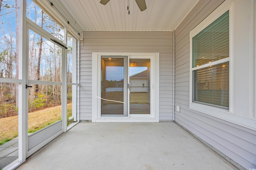
POLYGON ((18 170, 236 170, 174 122, 78 123, 18 170))

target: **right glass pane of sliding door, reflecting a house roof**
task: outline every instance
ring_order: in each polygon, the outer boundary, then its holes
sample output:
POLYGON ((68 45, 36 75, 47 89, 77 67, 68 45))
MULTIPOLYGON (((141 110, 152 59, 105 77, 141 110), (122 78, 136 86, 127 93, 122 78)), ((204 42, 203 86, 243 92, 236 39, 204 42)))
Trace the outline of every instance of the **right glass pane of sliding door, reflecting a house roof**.
POLYGON ((130 59, 130 114, 150 114, 150 59, 130 59))

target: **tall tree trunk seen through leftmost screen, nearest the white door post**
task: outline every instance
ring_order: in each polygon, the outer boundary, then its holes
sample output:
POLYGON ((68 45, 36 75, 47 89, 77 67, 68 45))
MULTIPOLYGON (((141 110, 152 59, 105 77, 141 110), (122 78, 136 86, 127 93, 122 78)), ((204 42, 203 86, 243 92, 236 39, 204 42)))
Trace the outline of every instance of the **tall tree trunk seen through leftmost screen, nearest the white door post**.
MULTIPOLYGON (((1 1, 1 0, 0 0, 1 1)), ((16 12, 16 76, 15 78, 19 78, 19 12, 18 12, 18 0, 15 0, 15 12, 16 12)), ((19 92, 18 92, 18 83, 15 84, 16 88, 16 107, 19 106, 19 92)))

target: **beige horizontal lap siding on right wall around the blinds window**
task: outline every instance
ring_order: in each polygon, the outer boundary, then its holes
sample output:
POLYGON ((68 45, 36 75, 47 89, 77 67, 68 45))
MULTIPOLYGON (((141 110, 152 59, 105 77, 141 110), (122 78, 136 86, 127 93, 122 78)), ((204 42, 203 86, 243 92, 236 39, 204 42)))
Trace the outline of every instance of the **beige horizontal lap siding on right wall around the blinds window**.
POLYGON ((189 32, 223 1, 200 0, 175 30, 175 121, 238 167, 255 168, 256 131, 189 109, 189 32))

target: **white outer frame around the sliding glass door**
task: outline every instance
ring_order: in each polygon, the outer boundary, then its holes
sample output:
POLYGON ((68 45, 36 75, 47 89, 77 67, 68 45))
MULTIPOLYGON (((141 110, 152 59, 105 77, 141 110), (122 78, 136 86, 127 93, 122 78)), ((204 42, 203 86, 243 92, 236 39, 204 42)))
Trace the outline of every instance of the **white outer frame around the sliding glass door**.
POLYGON ((92 53, 92 122, 159 122, 159 53, 92 53), (131 115, 127 117, 102 117, 99 113, 100 98, 98 96, 99 82, 99 63, 101 56, 128 56, 129 58, 150 57, 152 60, 151 71, 152 80, 152 114, 150 115, 131 115))

